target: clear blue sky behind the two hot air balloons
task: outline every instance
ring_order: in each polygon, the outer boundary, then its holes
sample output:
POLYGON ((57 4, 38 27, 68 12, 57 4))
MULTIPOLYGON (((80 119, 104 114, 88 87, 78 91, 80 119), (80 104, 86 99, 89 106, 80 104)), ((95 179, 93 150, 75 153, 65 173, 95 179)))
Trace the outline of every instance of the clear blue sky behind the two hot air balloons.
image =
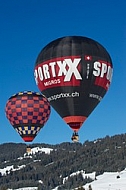
MULTIPOLYGON (((5 116, 14 93, 39 92, 34 65, 41 49, 63 36, 101 43, 114 66, 111 86, 79 131, 80 142, 126 133, 126 2, 93 0, 0 0, 0 143, 23 142, 5 116)), ((52 109, 33 141, 71 142, 72 130, 52 109)))

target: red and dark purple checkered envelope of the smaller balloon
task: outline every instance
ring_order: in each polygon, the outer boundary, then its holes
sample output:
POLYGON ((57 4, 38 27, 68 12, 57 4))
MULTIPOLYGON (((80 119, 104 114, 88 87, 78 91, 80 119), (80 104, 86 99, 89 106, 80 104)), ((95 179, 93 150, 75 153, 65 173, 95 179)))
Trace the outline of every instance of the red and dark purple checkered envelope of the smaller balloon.
POLYGON ((32 142, 50 116, 50 104, 40 93, 19 92, 5 107, 6 117, 25 142, 32 142))

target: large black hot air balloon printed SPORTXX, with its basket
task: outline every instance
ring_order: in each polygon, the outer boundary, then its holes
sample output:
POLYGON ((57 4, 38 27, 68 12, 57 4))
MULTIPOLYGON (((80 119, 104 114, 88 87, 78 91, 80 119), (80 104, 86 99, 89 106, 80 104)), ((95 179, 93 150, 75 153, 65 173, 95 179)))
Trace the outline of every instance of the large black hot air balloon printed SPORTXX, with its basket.
POLYGON ((62 37, 39 53, 36 84, 74 131, 73 141, 78 141, 78 130, 106 94, 112 72, 107 50, 87 37, 62 37))

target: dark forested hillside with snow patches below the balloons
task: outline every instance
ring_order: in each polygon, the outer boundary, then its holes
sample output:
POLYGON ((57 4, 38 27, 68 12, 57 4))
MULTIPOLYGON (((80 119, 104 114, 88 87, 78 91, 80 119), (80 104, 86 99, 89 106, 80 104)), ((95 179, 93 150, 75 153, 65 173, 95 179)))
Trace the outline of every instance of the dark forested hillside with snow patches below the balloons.
POLYGON ((74 189, 89 184, 104 172, 126 168, 126 134, 84 144, 31 146, 31 152, 26 153, 23 143, 0 145, 1 190, 32 186, 39 190, 74 189))

